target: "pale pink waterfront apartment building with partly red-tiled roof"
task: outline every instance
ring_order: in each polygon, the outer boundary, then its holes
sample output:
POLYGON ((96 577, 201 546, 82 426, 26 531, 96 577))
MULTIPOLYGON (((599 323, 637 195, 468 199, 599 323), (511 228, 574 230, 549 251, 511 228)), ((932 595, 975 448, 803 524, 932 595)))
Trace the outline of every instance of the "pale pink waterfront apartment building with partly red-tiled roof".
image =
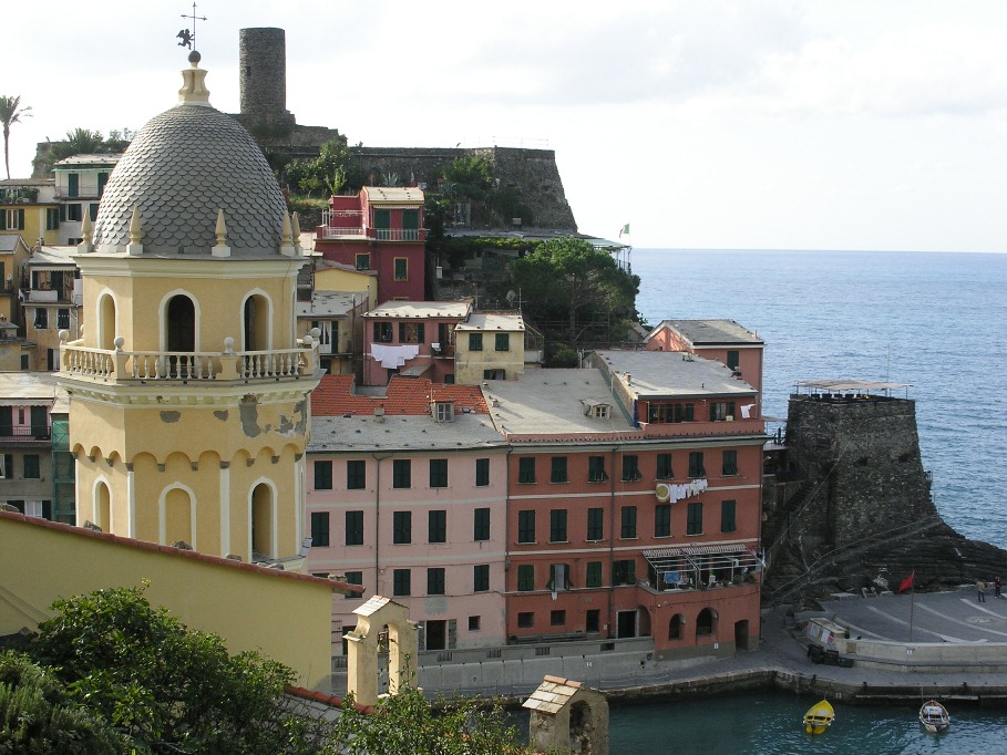
MULTIPOLYGON (((404 603, 421 650, 503 644, 506 444, 477 387, 395 377, 312 394, 307 515, 312 573, 404 603)), ((337 601, 338 630, 359 600, 337 601)))

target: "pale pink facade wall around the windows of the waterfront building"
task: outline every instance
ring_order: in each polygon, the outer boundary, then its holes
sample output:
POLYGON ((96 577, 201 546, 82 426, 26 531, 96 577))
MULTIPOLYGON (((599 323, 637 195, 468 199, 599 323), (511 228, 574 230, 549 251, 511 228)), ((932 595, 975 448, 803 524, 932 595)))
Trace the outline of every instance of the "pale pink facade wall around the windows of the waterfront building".
MULTIPOLYGON (((411 570, 411 596, 395 597, 409 607, 413 621, 458 621, 458 647, 500 644, 504 640, 504 511, 506 508, 506 462, 504 449, 397 454, 411 459, 408 489, 392 487, 392 458, 370 454, 310 454, 308 457, 307 526, 312 511, 328 511, 330 546, 314 547, 308 554, 309 572, 346 573, 362 571, 363 598, 393 597, 393 571, 411 570), (448 458, 446 488, 429 486, 429 461, 448 458), (475 459, 490 459, 490 485, 475 485, 475 459), (347 489, 346 462, 366 462, 367 488, 347 489), (315 489, 314 462, 332 461, 332 489, 315 489), (379 469, 380 464, 380 469, 379 469), (380 483, 379 483, 380 475, 380 483), (473 539, 476 508, 490 508, 490 539, 473 539), (346 545, 346 513, 363 511, 363 545, 346 545), (428 542, 428 513, 446 511, 446 542, 428 542), (394 511, 411 511, 412 542, 394 545, 394 511), (490 589, 473 592, 473 567, 490 566, 490 589), (445 569, 445 594, 427 596, 427 569, 445 569), (443 609, 443 610, 440 610, 443 609), (480 628, 469 629, 469 617, 480 617, 480 628)), ((336 600, 335 618, 343 627, 356 624, 352 609, 361 600, 336 600)))

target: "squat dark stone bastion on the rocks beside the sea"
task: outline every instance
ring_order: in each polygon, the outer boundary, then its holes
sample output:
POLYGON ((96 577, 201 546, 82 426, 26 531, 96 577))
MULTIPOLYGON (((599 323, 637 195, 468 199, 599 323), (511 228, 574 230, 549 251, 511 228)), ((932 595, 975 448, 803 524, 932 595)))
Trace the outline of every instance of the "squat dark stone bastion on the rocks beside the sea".
POLYGON ((789 459, 815 482, 797 523, 805 541, 854 546, 936 514, 919 457, 916 404, 904 399, 791 396, 789 459))

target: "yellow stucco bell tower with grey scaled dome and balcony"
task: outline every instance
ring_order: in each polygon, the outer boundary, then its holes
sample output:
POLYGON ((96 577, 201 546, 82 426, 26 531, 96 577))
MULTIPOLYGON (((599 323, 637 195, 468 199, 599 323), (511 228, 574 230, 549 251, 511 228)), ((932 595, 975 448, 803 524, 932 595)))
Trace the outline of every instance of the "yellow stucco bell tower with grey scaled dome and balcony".
POLYGON ((248 132, 209 105, 198 62, 136 134, 74 258, 84 335, 61 334, 60 380, 78 524, 300 569, 320 372, 296 335, 297 217, 248 132))

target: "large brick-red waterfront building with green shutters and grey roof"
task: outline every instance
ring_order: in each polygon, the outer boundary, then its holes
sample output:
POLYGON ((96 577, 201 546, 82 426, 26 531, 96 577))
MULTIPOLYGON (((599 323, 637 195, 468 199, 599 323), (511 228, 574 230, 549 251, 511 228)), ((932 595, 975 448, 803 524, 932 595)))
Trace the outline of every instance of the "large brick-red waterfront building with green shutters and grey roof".
POLYGON ((596 352, 484 389, 511 446, 512 641, 649 635, 659 660, 759 637, 759 392, 688 352, 596 352))

